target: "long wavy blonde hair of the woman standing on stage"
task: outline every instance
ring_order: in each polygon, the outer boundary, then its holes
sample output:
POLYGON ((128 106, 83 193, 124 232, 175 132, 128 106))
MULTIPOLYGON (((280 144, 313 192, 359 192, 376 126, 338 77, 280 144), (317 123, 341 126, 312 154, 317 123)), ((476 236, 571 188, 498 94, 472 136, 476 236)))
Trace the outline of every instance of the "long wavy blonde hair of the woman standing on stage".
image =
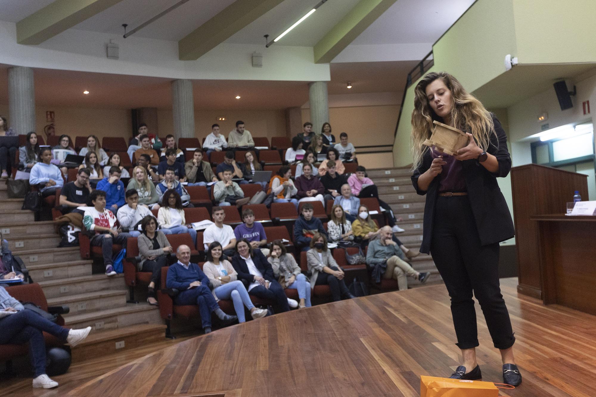
POLYGON ((468 93, 457 78, 446 72, 431 72, 416 84, 414 89, 414 111, 412 111, 412 157, 416 169, 422 163, 424 153, 429 147, 423 142, 433 131, 433 121, 443 122, 430 107, 426 96, 426 87, 440 78, 451 91, 454 106, 451 108, 452 126, 474 136, 478 146, 487 150, 491 141, 491 134, 495 134, 495 125, 489 111, 476 97, 468 93))

